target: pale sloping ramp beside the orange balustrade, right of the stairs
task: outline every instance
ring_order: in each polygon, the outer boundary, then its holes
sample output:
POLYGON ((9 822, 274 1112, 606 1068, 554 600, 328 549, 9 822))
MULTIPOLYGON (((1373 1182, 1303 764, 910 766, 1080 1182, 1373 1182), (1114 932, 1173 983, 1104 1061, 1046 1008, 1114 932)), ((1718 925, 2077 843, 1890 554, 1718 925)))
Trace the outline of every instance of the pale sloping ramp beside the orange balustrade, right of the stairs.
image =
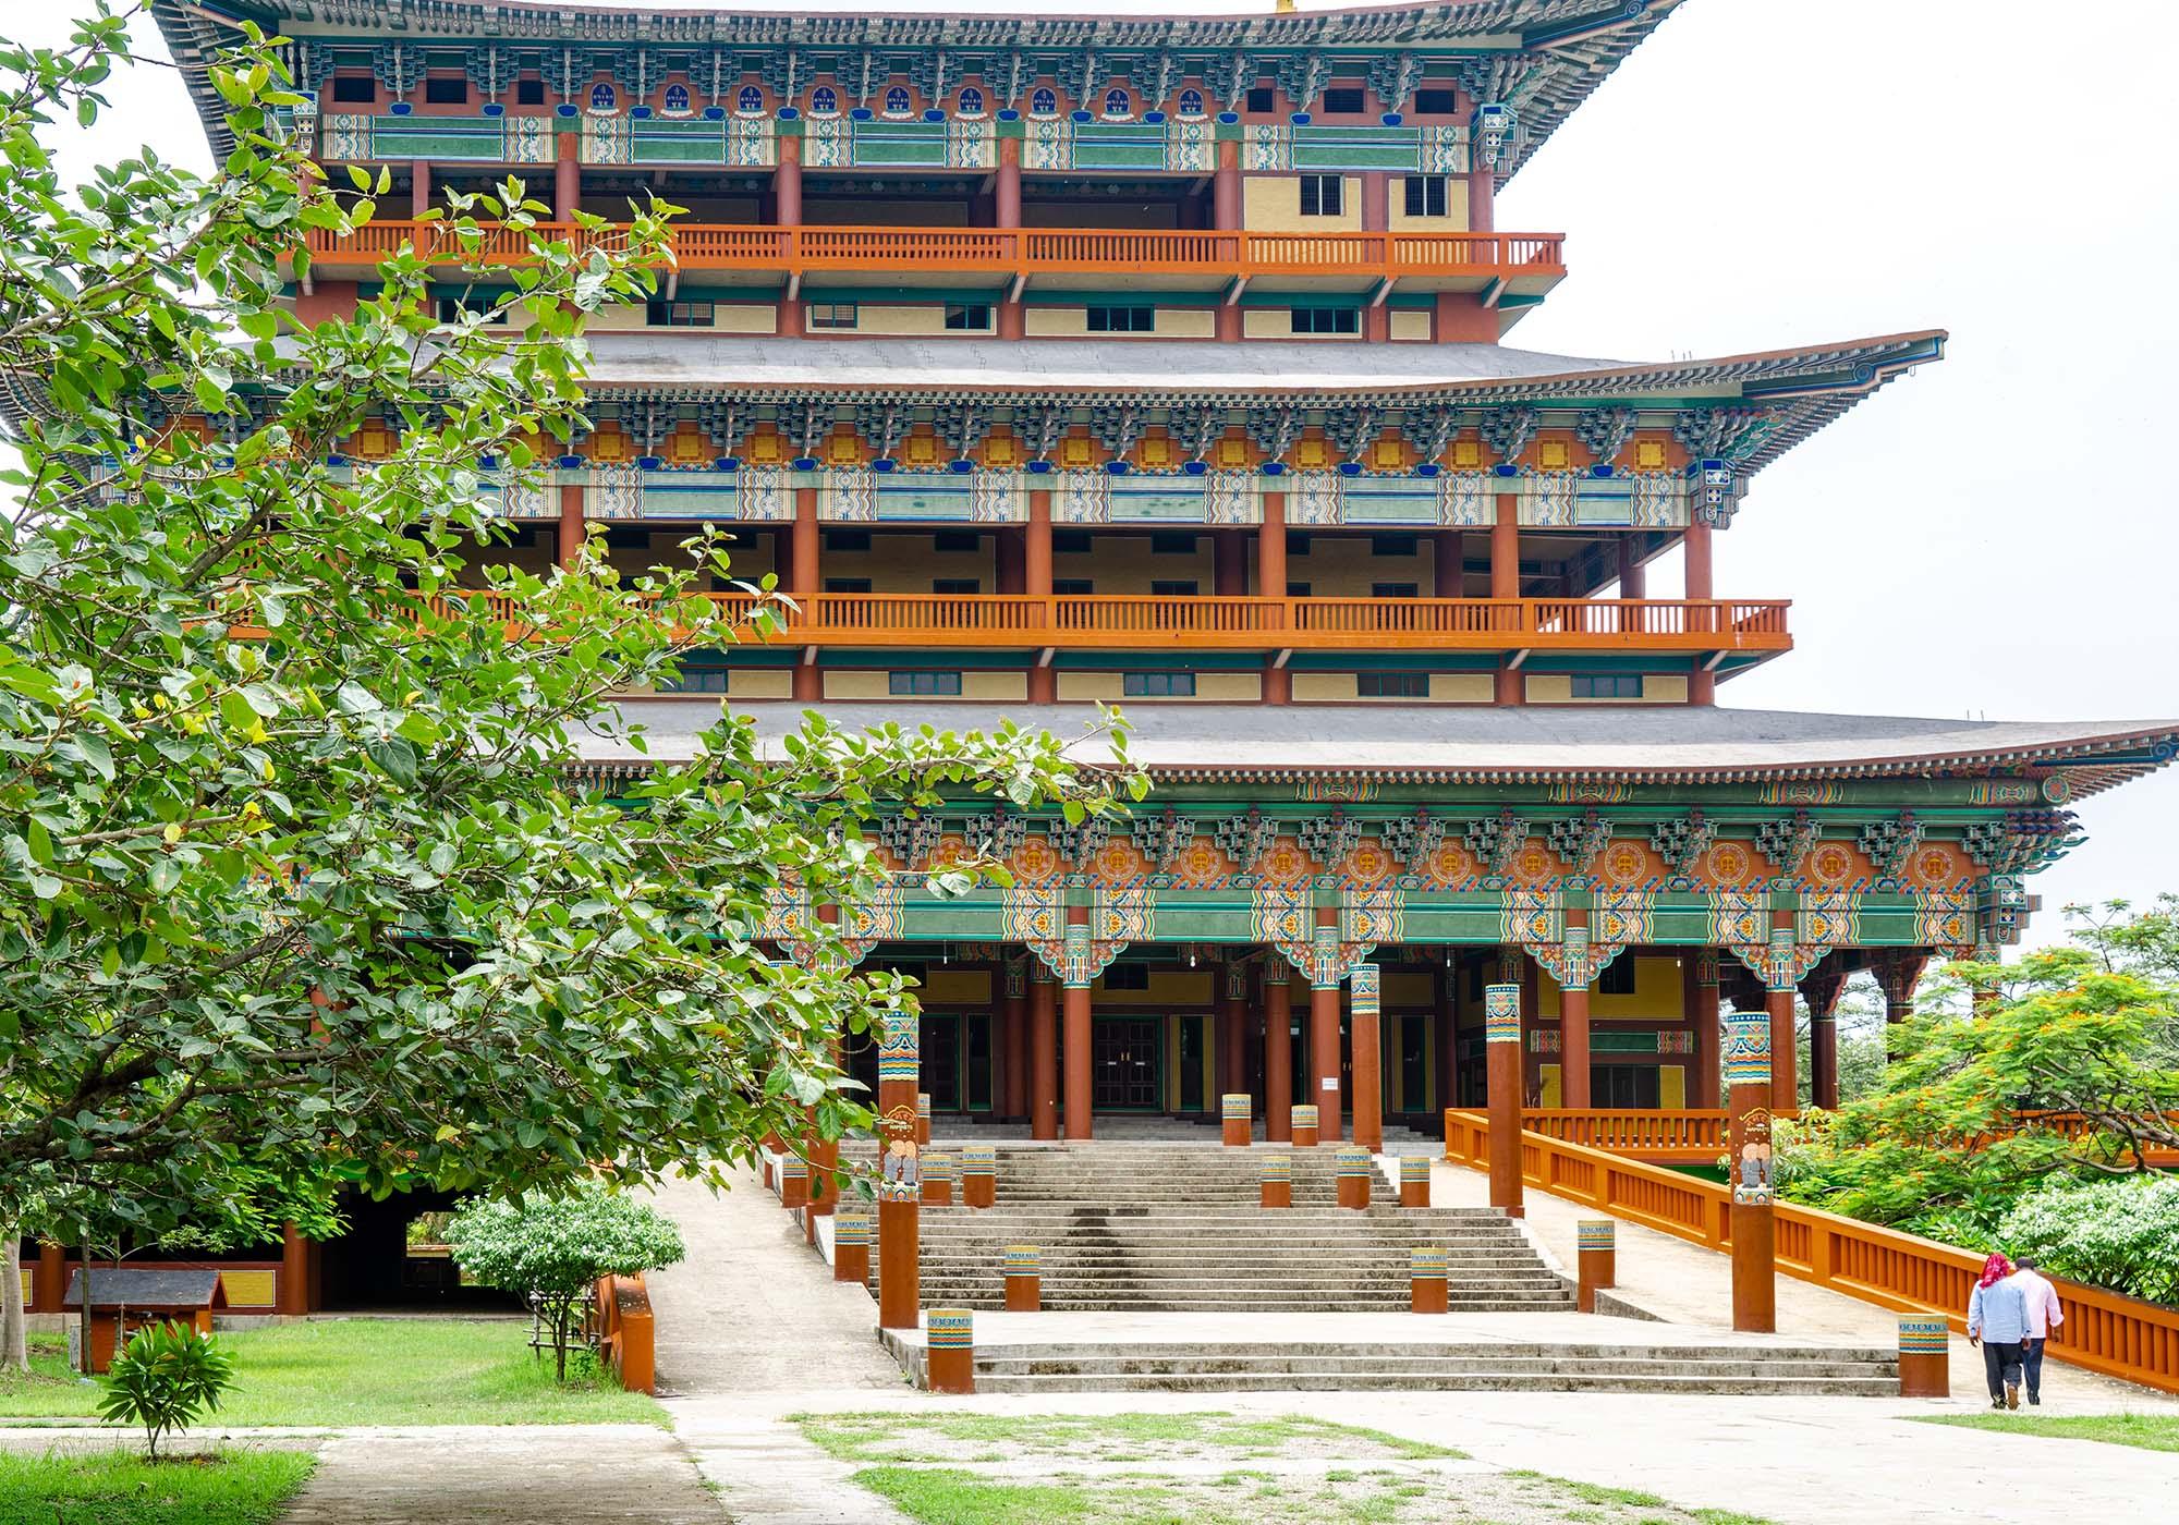
MULTIPOLYGON (((1429 1170, 1429 1200, 1436 1207, 1486 1207, 1490 1179, 1482 1170, 1438 1161, 1429 1170)), ((1530 1237, 1560 1270, 1571 1274, 1578 1255, 1575 1224, 1602 1213, 1536 1187, 1530 1187, 1523 1200, 1530 1237)), ((1678 1325, 1732 1322, 1732 1259, 1717 1250, 1619 1220, 1617 1272, 1615 1294, 1645 1314, 1678 1325)), ((1898 1314, 1782 1272, 1778 1277, 1778 1329, 1815 1342, 1898 1349, 1898 1314)), ((1952 1396, 1972 1399, 1985 1392, 1983 1353, 1955 1335, 1952 1396)), ((2044 1403, 2179 1412, 2175 1396, 2098 1377, 2055 1359, 2044 1362, 2044 1403)))

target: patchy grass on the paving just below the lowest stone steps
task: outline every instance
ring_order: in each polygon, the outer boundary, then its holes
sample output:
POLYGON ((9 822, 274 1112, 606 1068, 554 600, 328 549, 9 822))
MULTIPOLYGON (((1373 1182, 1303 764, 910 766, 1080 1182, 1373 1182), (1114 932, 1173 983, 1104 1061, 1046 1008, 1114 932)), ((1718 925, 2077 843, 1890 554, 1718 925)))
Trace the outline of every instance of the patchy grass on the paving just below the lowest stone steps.
POLYGON ((789 1423, 841 1462, 974 1462, 994 1453, 1170 1460, 1288 1455, 1460 1460, 1451 1447, 1290 1414, 793 1414, 789 1423))

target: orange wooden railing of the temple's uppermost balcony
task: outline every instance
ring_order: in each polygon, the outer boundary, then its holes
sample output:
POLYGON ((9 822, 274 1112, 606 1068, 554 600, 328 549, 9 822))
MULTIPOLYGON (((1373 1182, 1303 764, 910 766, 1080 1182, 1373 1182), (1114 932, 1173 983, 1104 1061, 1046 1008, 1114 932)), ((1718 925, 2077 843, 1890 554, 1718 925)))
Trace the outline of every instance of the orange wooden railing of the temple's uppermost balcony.
MULTIPOLYGON (((612 248, 614 229, 547 229, 577 253, 612 248)), ((909 227, 728 227, 671 229, 680 270, 922 270, 989 277, 1059 272, 1218 277, 1399 277, 1495 279, 1567 272, 1560 233, 1255 233, 1127 229, 909 229, 909 227)), ((366 222, 346 237, 309 231, 312 259, 379 261, 412 244, 445 261, 523 264, 529 242, 514 229, 462 235, 438 222, 366 222)))

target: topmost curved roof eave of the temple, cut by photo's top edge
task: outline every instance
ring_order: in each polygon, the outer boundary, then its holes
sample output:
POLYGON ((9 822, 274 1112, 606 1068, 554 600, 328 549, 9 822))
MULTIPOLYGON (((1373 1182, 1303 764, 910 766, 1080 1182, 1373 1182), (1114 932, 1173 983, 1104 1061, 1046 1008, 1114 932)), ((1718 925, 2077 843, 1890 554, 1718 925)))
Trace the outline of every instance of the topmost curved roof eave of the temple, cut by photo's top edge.
POLYGON ((944 11, 795 13, 732 9, 604 11, 519 0, 153 0, 153 15, 181 65, 216 152, 233 148, 224 107, 205 78, 205 59, 231 35, 220 22, 251 17, 381 30, 392 37, 508 37, 523 44, 887 48, 1146 52, 1174 48, 1246 50, 1264 57, 1307 48, 1421 48, 1442 54, 1525 54, 1527 76, 1510 91, 1521 120, 1510 181, 1588 91, 1676 11, 1682 0, 1464 0, 1373 4, 1290 15, 946 15, 944 11))

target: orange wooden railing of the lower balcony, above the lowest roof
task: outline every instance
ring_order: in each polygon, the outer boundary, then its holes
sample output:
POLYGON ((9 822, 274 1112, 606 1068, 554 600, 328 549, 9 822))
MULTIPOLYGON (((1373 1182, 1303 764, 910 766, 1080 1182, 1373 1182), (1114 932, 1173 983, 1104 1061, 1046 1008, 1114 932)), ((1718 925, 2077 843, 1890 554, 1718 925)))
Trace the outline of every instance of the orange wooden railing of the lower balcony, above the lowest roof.
MULTIPOLYGON (((503 595, 473 595, 503 606, 503 595)), ((708 595, 728 619, 752 595, 708 595)), ((1789 603, 1730 599, 1257 599, 1026 593, 819 593, 778 643, 1242 651, 1787 651, 1789 603)))

